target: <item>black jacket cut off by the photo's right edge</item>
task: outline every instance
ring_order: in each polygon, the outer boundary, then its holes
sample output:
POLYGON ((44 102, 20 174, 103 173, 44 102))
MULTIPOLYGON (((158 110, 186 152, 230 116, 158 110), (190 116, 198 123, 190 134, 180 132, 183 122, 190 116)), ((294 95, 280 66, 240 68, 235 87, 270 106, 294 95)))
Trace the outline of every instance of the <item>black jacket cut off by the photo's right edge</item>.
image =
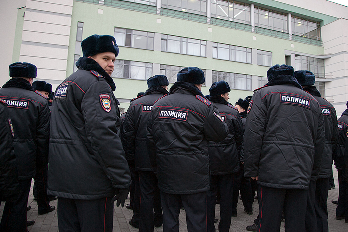
POLYGON ((341 117, 337 120, 337 146, 335 149, 335 166, 337 169, 342 170, 344 165, 343 156, 345 153, 345 144, 347 139, 348 130, 348 109, 343 111, 341 117))

